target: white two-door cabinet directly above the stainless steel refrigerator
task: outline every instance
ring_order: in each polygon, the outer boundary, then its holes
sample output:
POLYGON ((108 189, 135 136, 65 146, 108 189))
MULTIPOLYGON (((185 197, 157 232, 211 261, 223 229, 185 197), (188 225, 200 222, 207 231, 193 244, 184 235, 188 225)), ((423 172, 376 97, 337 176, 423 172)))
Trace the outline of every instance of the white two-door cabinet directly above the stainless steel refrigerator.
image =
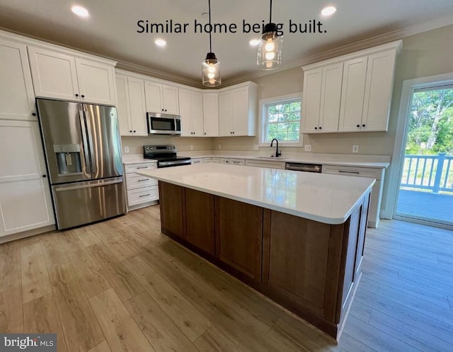
POLYGON ((115 105, 113 64, 28 47, 35 96, 115 105))

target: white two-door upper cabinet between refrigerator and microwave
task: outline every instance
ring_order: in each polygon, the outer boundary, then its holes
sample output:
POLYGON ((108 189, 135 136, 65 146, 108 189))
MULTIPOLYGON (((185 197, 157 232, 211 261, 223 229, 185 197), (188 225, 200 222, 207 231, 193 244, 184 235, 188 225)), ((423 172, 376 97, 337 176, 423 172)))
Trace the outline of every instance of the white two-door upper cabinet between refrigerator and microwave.
POLYGON ((147 136, 143 79, 116 74, 117 114, 122 136, 147 136))

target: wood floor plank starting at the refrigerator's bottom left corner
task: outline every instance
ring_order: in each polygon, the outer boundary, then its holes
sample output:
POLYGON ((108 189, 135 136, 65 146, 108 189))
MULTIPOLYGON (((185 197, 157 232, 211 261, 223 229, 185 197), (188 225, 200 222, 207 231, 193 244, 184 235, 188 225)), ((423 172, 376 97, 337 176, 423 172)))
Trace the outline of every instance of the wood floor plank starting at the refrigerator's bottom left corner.
POLYGON ((110 283, 103 276, 98 264, 91 258, 75 234, 64 233, 60 237, 60 241, 87 297, 93 297, 110 288, 110 283))

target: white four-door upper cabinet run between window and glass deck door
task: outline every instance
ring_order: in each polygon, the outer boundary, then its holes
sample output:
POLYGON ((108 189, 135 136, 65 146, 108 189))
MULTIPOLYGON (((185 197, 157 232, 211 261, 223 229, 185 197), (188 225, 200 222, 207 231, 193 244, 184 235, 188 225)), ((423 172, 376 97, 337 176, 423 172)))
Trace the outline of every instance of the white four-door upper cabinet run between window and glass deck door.
POLYGON ((386 131, 398 40, 304 69, 302 132, 386 131))

